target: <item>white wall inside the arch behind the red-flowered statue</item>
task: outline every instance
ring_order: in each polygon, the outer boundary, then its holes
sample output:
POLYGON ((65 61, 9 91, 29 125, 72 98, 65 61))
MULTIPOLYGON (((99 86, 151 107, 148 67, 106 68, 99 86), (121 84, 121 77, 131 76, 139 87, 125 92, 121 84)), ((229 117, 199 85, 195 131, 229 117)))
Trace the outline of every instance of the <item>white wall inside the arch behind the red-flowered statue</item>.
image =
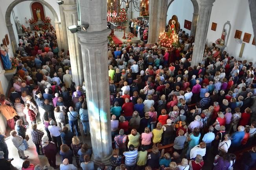
POLYGON ((184 21, 192 22, 194 7, 191 0, 174 0, 168 8, 166 25, 173 15, 178 17, 180 28, 190 34, 190 30, 184 28, 184 21))

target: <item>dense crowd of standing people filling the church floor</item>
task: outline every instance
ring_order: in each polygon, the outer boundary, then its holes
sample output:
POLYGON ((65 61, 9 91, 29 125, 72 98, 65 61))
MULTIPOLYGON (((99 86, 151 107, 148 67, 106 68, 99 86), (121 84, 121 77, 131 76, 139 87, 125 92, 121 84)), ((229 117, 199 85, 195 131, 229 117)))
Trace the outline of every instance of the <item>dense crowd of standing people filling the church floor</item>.
MULTIPOLYGON (((114 146, 110 166, 102 163, 98 170, 201 170, 212 154, 213 170, 232 170, 237 148, 248 147, 252 149, 239 166, 249 170, 255 164, 255 65, 212 44, 205 47, 202 62, 191 66, 193 38, 182 30, 178 34, 180 47, 165 51, 144 43, 109 45, 114 146)), ((19 42, 11 94, 0 95, 0 111, 19 157, 28 158, 32 140, 37 154, 46 156, 54 169, 93 170, 92 149, 79 137, 90 134, 85 89, 72 80, 68 52, 58 49, 53 27, 39 34, 28 31, 19 42), (35 60, 22 62, 26 56, 35 60)), ((0 134, 0 163, 9 170, 12 159, 5 138, 0 134)), ((29 160, 22 165, 22 170, 47 169, 29 160)))

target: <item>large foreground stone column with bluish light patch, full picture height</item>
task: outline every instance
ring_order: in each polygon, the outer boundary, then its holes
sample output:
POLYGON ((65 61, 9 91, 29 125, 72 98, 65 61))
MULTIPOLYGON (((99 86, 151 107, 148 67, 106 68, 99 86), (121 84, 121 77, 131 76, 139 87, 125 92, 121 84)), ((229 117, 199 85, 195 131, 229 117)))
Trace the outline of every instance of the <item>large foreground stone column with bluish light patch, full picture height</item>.
POLYGON ((81 45, 87 107, 90 123, 92 160, 109 164, 112 155, 109 75, 107 64, 107 1, 80 0, 80 20, 90 25, 77 32, 81 45))

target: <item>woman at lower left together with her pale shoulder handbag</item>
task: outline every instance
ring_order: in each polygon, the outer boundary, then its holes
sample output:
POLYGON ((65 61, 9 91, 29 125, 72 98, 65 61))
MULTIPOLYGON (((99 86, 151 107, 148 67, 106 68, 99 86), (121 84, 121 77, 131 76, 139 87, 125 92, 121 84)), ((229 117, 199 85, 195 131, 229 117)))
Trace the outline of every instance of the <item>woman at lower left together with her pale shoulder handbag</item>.
POLYGON ((23 139, 21 136, 17 135, 17 132, 15 130, 12 130, 10 132, 11 135, 11 141, 13 142, 13 145, 18 150, 18 155, 21 159, 26 159, 28 156, 24 155, 24 150, 28 149, 28 142, 26 139, 23 139))

